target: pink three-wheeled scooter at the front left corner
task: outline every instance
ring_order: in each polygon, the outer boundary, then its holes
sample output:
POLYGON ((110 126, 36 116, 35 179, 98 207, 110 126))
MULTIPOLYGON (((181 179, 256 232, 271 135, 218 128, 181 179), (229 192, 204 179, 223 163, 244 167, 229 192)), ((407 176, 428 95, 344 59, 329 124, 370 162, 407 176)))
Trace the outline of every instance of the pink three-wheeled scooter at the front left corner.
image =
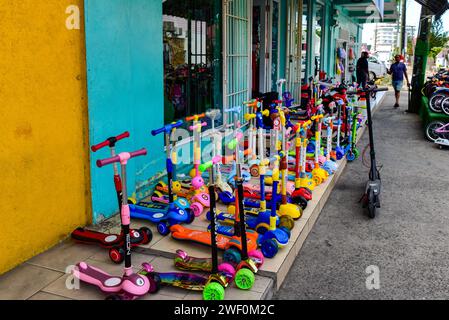
POLYGON ((153 279, 134 273, 131 265, 131 242, 130 242, 130 213, 128 206, 128 195, 126 192, 126 164, 129 159, 147 154, 146 149, 135 152, 123 152, 119 155, 98 160, 97 166, 120 162, 122 174, 122 230, 125 238, 125 269, 123 276, 113 276, 98 268, 88 265, 86 262, 80 262, 73 270, 73 275, 83 282, 92 284, 100 288, 104 293, 111 294, 106 297, 107 300, 134 300, 148 292, 155 292, 157 284, 153 279))

